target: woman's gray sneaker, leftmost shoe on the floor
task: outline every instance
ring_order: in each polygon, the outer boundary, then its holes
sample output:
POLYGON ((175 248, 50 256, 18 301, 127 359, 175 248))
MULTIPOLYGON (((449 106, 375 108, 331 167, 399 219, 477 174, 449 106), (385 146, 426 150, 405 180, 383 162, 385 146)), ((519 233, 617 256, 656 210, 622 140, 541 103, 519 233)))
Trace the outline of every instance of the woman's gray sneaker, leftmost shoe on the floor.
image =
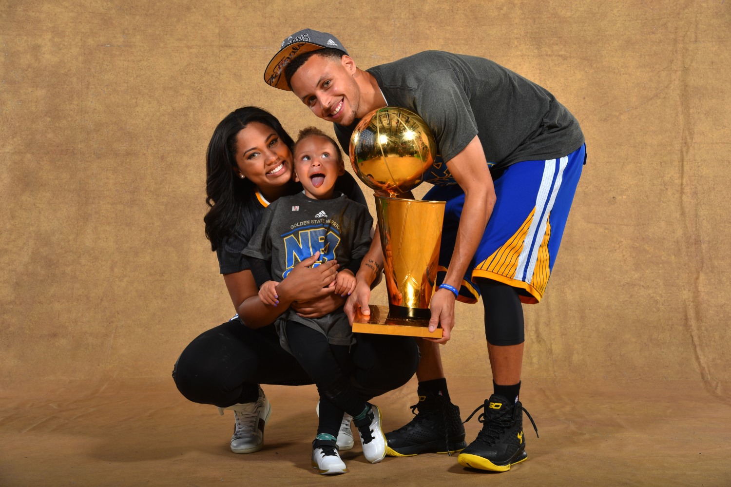
POLYGON ((221 416, 224 409, 231 409, 234 414, 234 429, 231 437, 233 453, 254 453, 264 447, 264 426, 272 412, 271 404, 262 388, 259 388, 259 399, 245 404, 234 404, 219 407, 221 416))

